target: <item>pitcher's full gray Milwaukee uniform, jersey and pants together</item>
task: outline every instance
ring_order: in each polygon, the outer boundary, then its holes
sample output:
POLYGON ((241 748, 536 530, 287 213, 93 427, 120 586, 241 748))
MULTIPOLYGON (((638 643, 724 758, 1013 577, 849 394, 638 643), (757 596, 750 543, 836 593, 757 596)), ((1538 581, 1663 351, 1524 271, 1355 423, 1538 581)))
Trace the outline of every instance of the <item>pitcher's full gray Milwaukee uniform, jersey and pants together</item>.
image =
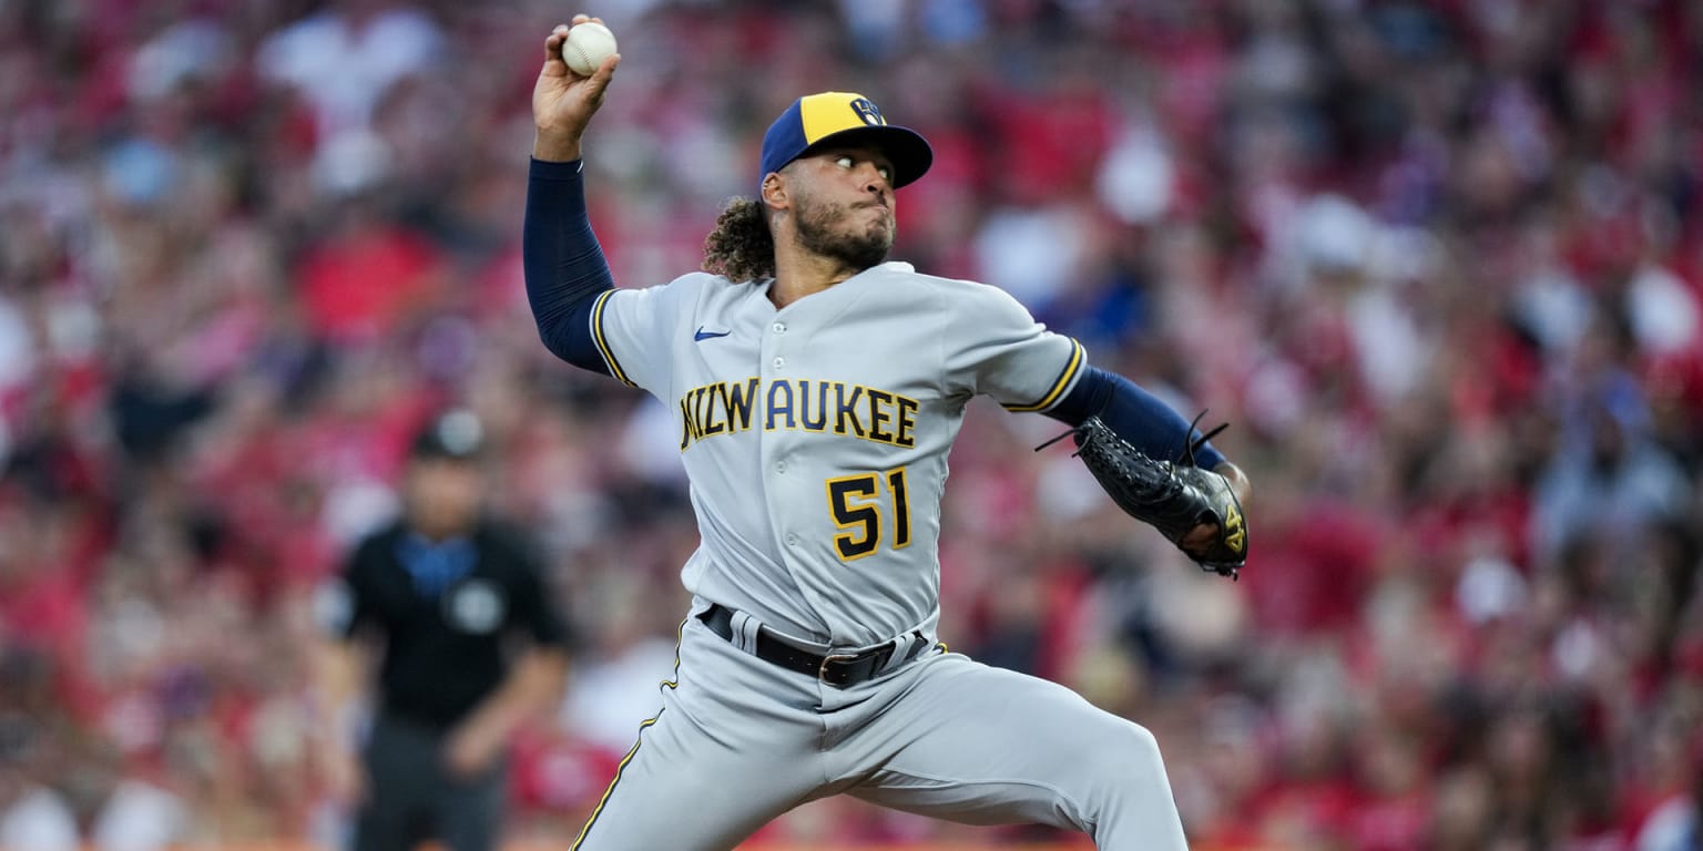
POLYGON ((1185 849, 1153 735, 1069 689, 932 645, 940 497, 971 397, 1046 410, 1083 351, 1000 289, 869 269, 777 310, 768 286, 688 274, 613 289, 591 334, 610 373, 668 403, 702 545, 683 570, 662 706, 574 849, 727 849, 846 793, 969 824, 1042 822, 1102 849, 1185 849), (834 686, 760 659, 896 642, 834 686))

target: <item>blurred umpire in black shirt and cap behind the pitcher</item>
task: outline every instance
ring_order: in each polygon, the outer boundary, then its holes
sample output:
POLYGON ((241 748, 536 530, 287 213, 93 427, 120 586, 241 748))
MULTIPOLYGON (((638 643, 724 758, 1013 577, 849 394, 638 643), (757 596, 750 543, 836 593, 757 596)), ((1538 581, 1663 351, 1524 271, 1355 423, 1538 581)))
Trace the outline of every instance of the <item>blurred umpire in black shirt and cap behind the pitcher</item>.
POLYGON ((353 550, 322 601, 337 638, 318 665, 322 730, 341 739, 327 749, 327 783, 358 807, 354 851, 431 837, 451 851, 496 848, 509 737, 562 694, 567 626, 530 543, 482 511, 482 446, 467 410, 421 431, 402 516, 353 550), (358 762, 351 722, 371 648, 376 694, 358 762))

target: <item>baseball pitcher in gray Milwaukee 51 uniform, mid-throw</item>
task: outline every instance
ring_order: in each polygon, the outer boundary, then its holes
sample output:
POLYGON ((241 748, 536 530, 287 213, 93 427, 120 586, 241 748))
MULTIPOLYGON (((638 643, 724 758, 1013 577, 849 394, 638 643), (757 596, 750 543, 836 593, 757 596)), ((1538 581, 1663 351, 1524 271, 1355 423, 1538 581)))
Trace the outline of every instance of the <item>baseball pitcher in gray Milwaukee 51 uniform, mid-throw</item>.
POLYGON ((567 31, 533 94, 526 293, 552 352, 676 414, 702 534, 674 677, 574 848, 727 849, 840 793, 1187 848, 1148 730, 937 643, 947 453, 976 395, 1059 419, 1119 505, 1226 575, 1247 477, 1006 293, 889 262, 896 191, 933 153, 857 94, 775 119, 705 271, 616 289, 581 138, 620 56, 576 75, 567 31))

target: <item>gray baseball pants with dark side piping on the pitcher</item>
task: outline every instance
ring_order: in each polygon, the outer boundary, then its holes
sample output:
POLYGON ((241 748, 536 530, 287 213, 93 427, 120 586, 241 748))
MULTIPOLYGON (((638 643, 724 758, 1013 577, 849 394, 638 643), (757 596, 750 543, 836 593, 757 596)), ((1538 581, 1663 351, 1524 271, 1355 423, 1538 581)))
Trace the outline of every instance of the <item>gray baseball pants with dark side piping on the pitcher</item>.
POLYGON ((1102 851, 1187 849, 1158 742, 1039 677, 943 648, 846 689, 697 618, 576 851, 724 851, 816 798, 964 824, 1047 824, 1102 851))

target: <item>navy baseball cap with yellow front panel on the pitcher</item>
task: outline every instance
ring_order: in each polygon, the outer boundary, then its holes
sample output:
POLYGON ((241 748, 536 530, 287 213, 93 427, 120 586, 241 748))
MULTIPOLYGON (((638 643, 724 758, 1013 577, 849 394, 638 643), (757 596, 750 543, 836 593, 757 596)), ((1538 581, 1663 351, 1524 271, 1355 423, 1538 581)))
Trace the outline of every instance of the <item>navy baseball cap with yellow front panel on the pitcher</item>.
POLYGON ((892 162, 892 187, 921 177, 935 162, 928 140, 911 128, 887 124, 870 99, 857 92, 821 92, 792 102, 763 134, 763 174, 782 170, 812 148, 869 145, 892 162))

